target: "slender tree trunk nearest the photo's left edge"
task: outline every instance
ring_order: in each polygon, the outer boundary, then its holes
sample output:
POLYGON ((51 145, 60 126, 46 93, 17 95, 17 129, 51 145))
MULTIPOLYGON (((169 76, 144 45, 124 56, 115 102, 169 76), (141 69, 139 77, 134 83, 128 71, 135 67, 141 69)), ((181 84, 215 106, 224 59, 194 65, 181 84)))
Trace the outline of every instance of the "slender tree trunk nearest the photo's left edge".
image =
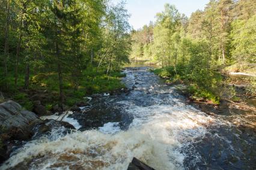
MULTIPOLYGON (((4 77, 7 78, 7 59, 9 56, 9 15, 10 15, 10 0, 7 1, 7 13, 5 21, 5 36, 4 36, 4 77)), ((5 80, 5 89, 8 89, 7 80, 5 80)))

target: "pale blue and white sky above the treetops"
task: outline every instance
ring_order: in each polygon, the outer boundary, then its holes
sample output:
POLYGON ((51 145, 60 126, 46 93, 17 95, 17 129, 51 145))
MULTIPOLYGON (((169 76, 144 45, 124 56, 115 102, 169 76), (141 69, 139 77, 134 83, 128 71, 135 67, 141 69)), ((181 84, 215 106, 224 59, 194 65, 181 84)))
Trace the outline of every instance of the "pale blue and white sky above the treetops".
MULTIPOLYGON (((112 0, 114 3, 121 0, 112 0)), ((196 10, 203 10, 209 0, 126 0, 126 9, 131 15, 130 25, 134 29, 142 28, 148 25, 150 21, 155 20, 156 13, 163 11, 163 6, 166 3, 175 5, 180 13, 190 14, 196 10)))

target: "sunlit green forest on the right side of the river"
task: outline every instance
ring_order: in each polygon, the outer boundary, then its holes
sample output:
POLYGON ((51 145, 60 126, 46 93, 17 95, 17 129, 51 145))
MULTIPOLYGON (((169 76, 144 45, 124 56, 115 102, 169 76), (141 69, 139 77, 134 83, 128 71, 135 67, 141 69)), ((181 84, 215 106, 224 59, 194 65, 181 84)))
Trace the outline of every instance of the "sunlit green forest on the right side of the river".
POLYGON ((132 32, 130 60, 162 66, 154 72, 187 80, 192 93, 218 102, 220 71, 256 72, 255 7, 254 0, 211 0, 187 18, 166 4, 156 23, 132 32))

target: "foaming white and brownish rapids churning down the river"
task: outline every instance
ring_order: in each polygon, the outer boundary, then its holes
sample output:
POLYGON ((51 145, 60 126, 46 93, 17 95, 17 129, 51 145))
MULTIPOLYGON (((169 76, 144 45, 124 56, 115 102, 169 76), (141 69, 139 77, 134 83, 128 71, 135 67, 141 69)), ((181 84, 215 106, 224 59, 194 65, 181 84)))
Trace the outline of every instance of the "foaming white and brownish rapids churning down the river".
MULTIPOLYGON (((136 76, 127 72, 126 81, 132 76, 134 81, 136 76)), ((138 105, 132 97, 115 103, 133 116, 128 130, 121 130, 119 122, 109 122, 98 129, 65 136, 53 131, 54 139, 44 136, 28 142, 1 169, 127 169, 133 157, 155 169, 187 169, 185 157, 193 156, 190 164, 200 161, 191 144, 204 138, 207 126, 217 120, 184 104, 172 94, 173 89, 161 89, 150 82, 144 86, 144 78, 139 78, 141 86, 134 93, 151 93, 147 96, 151 104, 138 105)))

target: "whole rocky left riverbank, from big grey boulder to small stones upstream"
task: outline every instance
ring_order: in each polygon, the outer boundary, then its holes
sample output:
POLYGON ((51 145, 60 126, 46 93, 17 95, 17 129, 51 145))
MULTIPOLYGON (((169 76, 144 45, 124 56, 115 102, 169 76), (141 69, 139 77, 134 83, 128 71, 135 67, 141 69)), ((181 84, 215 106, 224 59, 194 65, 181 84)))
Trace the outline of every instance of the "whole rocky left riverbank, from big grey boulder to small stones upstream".
MULTIPOLYGON (((125 92, 129 92, 129 90, 126 88, 113 90, 107 95, 117 95, 125 92)), ((40 92, 37 95, 32 95, 33 99, 35 99, 32 102, 33 112, 25 110, 20 104, 11 100, 0 104, 0 164, 7 160, 14 150, 22 147, 26 142, 37 139, 42 135, 47 135, 53 129, 64 127, 66 132, 62 133, 67 133, 72 129, 79 129, 72 123, 70 124, 69 121, 66 121, 66 119, 72 119, 68 118, 70 113, 79 113, 83 108, 90 107, 90 104, 86 101, 90 101, 91 98, 78 101, 73 107, 64 105, 64 112, 62 112, 58 104, 47 110, 44 103, 47 100, 46 96, 50 95, 45 94, 46 92, 40 92)), ((92 95, 91 97, 97 98, 97 95, 92 95)), ((93 128, 93 125, 88 128, 93 128)))

